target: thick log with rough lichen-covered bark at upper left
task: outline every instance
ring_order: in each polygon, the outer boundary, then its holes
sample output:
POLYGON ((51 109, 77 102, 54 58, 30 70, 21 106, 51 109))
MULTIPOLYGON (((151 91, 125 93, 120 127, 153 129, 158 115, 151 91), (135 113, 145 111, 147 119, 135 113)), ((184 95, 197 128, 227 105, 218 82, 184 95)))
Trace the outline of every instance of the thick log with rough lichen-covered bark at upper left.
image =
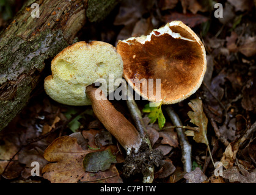
POLYGON ((26 106, 44 61, 73 43, 86 23, 87 1, 29 0, 1 32, 0 130, 26 106), (31 15, 33 3, 39 4, 39 18, 31 15))

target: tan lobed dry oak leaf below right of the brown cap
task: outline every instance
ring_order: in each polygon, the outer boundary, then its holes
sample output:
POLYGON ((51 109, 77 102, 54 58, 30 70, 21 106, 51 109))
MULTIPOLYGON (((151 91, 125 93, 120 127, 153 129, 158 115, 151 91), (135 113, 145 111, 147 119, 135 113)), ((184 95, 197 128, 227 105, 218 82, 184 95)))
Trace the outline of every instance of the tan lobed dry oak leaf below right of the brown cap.
POLYGON ((197 143, 205 143, 207 146, 209 145, 207 139, 207 123, 208 119, 203 112, 203 103, 200 99, 192 99, 191 102, 188 103, 189 107, 192 108, 194 112, 189 111, 188 116, 191 119, 191 122, 195 124, 199 130, 199 132, 195 132, 192 130, 186 130, 186 134, 193 135, 193 139, 197 143))

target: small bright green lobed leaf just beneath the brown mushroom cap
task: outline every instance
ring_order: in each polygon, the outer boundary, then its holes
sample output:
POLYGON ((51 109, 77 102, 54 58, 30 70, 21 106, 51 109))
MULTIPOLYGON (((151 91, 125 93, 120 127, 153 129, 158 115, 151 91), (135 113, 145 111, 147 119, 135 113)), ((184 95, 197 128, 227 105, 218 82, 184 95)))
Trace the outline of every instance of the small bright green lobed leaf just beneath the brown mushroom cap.
POLYGON ((146 104, 142 112, 149 113, 148 118, 150 118, 150 123, 155 123, 158 120, 159 129, 163 129, 164 124, 166 124, 166 118, 164 118, 162 112, 162 102, 161 104, 157 103, 156 106, 152 106, 152 104, 154 105, 154 102, 151 103, 151 106, 150 104, 146 104))

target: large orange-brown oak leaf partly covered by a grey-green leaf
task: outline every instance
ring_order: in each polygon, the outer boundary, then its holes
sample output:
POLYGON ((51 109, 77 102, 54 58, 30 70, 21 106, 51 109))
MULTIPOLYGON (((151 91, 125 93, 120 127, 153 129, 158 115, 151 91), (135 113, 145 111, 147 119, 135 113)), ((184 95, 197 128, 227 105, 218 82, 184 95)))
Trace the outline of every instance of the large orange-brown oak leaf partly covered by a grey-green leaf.
POLYGON ((119 174, 113 171, 115 169, 113 167, 107 172, 97 174, 84 171, 82 162, 84 156, 90 152, 95 150, 84 151, 76 142, 76 138, 69 136, 57 138, 45 150, 45 159, 53 163, 43 168, 43 177, 52 183, 97 182, 99 179, 106 179, 106 176, 111 181, 120 180, 119 174))

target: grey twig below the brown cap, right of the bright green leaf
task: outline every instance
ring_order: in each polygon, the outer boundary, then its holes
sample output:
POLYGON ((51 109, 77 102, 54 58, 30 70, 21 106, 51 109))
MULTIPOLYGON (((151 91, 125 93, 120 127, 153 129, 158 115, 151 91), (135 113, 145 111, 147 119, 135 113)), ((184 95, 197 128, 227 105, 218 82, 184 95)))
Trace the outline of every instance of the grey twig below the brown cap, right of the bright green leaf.
MULTIPOLYGON (((175 113, 174 109, 170 105, 167 106, 165 110, 167 112, 167 115, 169 115, 170 120, 175 126, 183 126, 177 113, 175 113)), ((184 166, 184 171, 191 172, 191 145, 188 143, 188 138, 186 137, 182 128, 177 128, 177 134, 180 140, 180 146, 182 150, 182 162, 184 166)))

